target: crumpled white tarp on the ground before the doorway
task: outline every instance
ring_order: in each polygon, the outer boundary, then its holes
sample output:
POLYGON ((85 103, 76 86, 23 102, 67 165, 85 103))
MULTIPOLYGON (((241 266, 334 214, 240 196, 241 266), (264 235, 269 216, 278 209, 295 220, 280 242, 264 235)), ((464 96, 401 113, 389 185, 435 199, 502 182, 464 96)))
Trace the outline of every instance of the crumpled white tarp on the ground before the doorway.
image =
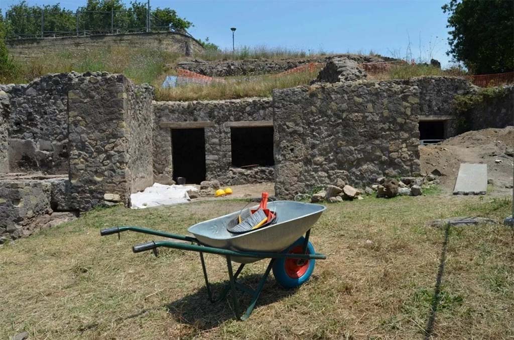
POLYGON ((166 185, 155 183, 144 191, 130 196, 132 209, 150 206, 170 205, 189 201, 188 190, 196 190, 193 185, 166 185))

